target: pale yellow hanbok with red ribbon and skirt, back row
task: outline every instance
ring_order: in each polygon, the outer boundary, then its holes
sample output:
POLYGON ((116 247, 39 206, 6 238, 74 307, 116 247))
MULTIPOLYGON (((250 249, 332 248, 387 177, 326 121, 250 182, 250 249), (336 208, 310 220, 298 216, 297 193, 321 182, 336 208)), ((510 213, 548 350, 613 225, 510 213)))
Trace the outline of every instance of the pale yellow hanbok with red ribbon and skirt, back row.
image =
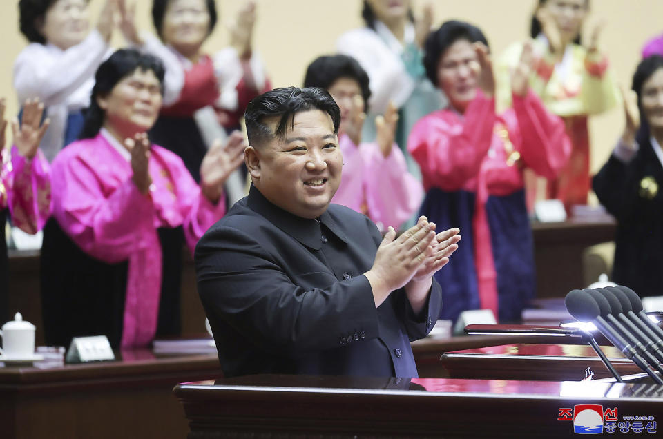
MULTIPOLYGON (((546 197, 560 199, 570 213, 574 204, 587 204, 590 188, 588 116, 613 108, 619 101, 619 92, 608 69, 608 59, 600 52, 589 52, 572 43, 566 46, 561 62, 555 64, 543 35, 532 43, 538 63, 530 77, 530 87, 551 113, 564 119, 566 133, 573 145, 568 164, 557 177, 548 178, 546 197)), ((523 43, 512 44, 497 63, 499 109, 510 106, 511 70, 517 65, 522 48, 523 43)), ((528 204, 531 206, 537 182, 534 175, 528 176, 527 180, 528 204)))

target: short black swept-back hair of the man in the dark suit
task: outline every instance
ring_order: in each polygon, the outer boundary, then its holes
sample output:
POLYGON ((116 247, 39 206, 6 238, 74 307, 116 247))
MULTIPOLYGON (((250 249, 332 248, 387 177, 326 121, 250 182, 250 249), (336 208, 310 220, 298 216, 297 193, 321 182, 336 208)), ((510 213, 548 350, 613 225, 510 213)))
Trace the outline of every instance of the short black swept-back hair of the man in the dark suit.
POLYGON ((294 127, 295 114, 308 110, 327 113, 334 122, 334 133, 338 133, 340 109, 324 88, 275 88, 254 98, 244 113, 249 145, 259 148, 271 139, 284 138, 288 126, 294 127), (272 133, 265 121, 273 117, 278 117, 279 121, 272 133))

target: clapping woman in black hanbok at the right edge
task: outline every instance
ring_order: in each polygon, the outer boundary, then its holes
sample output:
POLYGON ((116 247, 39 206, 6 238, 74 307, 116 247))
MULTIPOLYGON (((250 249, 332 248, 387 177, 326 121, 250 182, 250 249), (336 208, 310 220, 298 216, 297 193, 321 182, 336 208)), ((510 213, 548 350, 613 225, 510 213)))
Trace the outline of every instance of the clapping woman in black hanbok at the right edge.
POLYGON ((639 295, 663 291, 663 57, 640 61, 624 92, 626 126, 593 189, 617 219, 613 282, 639 295), (641 125, 642 122, 642 126, 641 125))

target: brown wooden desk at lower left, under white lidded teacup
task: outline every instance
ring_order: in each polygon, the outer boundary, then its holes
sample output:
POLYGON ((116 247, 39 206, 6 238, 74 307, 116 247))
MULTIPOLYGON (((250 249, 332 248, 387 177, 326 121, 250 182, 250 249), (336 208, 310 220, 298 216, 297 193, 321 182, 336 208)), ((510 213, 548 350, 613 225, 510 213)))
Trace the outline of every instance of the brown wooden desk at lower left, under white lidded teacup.
POLYGON ((185 438, 173 386, 220 376, 215 352, 156 357, 134 350, 115 362, 0 367, 0 437, 185 438))

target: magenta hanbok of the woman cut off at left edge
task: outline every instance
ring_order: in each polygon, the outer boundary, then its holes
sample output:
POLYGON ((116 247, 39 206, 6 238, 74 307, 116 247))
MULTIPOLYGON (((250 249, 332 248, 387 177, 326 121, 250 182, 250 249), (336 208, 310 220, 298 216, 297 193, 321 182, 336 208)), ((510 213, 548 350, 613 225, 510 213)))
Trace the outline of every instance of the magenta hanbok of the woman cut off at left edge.
POLYGON ((16 146, 0 149, 0 321, 6 322, 9 293, 6 218, 26 233, 37 233, 50 214, 50 166, 37 150, 31 160, 21 157, 16 146))

